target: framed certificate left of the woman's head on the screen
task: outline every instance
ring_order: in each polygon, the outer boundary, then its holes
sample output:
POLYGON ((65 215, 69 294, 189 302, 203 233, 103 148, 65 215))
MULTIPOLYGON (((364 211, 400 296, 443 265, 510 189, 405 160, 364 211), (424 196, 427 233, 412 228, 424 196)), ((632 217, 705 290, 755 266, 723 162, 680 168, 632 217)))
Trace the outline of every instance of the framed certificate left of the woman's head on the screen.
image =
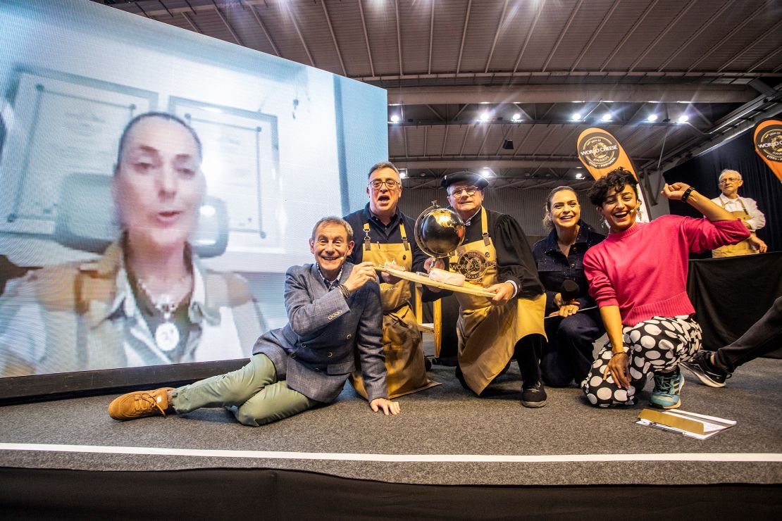
POLYGON ((0 231, 52 234, 62 180, 71 173, 112 175, 117 141, 158 95, 53 70, 18 70, 14 122, 0 181, 0 231))

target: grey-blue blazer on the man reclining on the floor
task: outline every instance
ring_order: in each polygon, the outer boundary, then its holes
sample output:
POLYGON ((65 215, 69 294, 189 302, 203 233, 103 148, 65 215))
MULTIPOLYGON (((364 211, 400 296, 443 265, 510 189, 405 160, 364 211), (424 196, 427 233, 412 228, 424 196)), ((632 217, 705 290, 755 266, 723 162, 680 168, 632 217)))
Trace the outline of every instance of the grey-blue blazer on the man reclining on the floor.
MULTIPOLYGON (((346 262, 340 282, 352 270, 346 262)), ((378 284, 364 284, 346 302, 338 290, 327 290, 315 264, 292 266, 285 273, 285 309, 288 325, 261 335, 253 348, 274 362, 278 380, 313 400, 333 401, 357 355, 369 401, 388 398, 378 284)))

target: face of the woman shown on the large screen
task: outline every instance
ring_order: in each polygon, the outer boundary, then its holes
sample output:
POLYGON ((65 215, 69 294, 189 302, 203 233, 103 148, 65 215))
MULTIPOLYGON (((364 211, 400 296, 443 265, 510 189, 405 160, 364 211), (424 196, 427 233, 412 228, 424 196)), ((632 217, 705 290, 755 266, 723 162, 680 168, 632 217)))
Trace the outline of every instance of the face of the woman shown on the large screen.
POLYGON ((206 189, 200 162, 180 123, 151 116, 128 130, 113 192, 133 248, 184 248, 206 189))

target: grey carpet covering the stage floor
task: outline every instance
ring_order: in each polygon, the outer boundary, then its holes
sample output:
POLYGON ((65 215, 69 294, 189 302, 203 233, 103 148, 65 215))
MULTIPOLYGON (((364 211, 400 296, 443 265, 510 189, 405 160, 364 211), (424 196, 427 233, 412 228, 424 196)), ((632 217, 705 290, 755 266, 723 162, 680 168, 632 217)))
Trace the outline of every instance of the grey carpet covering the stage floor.
MULTIPOLYGON (((782 360, 741 367, 728 386, 698 384, 686 370, 682 409, 722 416, 737 426, 698 441, 639 426, 639 406, 594 409, 575 386, 547 389, 543 409, 519 404, 518 369, 475 398, 435 366, 439 387, 400 398, 402 414, 385 417, 346 387, 328 407, 257 428, 223 409, 115 422, 113 396, 0 408, 0 441, 38 444, 226 450, 446 455, 578 455, 647 453, 782 453, 782 360)), ((0 451, 0 466, 92 470, 265 467, 410 484, 714 484, 782 483, 782 463, 766 462, 339 462, 300 459, 195 458, 0 451)))

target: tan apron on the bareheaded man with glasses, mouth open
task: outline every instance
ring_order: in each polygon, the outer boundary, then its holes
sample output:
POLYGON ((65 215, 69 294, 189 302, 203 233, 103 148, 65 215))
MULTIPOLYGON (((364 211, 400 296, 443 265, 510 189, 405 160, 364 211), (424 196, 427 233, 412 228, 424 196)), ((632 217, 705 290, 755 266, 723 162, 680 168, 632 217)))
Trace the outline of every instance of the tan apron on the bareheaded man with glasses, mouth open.
MULTIPOLYGON (((396 262, 410 271, 413 268, 413 252, 404 224, 400 223, 402 243, 372 244, 369 237, 369 224, 364 223, 364 261, 382 266, 385 262, 396 262)), ((423 391, 439 385, 426 376, 424 349, 421 333, 415 321, 415 313, 410 307, 410 282, 399 280, 396 284, 380 283, 380 300, 383 306, 383 355, 386 355, 386 386, 389 398, 423 391)), ((357 369, 350 377, 350 383, 358 394, 367 398, 361 370, 357 369)))

